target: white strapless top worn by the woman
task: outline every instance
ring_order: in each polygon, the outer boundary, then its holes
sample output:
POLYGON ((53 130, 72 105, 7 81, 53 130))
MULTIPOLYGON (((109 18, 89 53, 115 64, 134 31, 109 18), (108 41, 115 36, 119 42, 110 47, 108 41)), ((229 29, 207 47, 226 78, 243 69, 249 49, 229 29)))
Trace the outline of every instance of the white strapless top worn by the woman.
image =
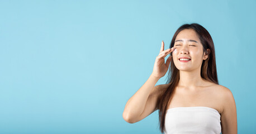
POLYGON ((167 110, 165 134, 220 134, 220 113, 210 107, 175 107, 167 110))

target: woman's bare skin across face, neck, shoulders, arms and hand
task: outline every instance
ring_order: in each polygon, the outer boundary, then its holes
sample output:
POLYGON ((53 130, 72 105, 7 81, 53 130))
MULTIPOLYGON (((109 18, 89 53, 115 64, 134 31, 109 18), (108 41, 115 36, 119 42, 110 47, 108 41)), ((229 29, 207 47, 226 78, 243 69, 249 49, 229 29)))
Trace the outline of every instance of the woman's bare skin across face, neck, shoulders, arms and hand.
MULTIPOLYGON (((169 84, 154 85, 162 76, 167 73, 171 58, 179 69, 180 80, 169 108, 174 107, 196 107, 204 106, 216 109, 221 114, 222 134, 237 133, 236 106, 231 91, 215 83, 207 82, 200 76, 202 60, 206 60, 208 55, 203 52, 203 47, 196 32, 182 30, 176 37, 173 57, 169 56, 166 63, 164 58, 174 50, 164 50, 164 42, 154 64, 153 73, 144 85, 127 101, 123 118, 126 122, 135 123, 141 121, 157 109, 157 99, 169 84), (182 40, 182 41, 177 41, 182 40), (189 42, 195 40, 197 42, 189 42), (180 57, 191 58, 188 63, 178 60, 180 57)), ((210 50, 207 50, 210 53, 210 50)))

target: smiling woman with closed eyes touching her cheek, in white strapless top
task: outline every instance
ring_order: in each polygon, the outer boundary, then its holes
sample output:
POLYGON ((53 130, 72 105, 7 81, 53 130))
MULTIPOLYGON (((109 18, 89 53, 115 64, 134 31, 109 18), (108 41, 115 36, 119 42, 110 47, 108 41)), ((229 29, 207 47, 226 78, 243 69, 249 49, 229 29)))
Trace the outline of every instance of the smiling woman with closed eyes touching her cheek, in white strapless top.
POLYGON ((126 103, 125 121, 141 121, 159 109, 162 133, 237 133, 235 100, 219 85, 210 33, 197 23, 184 24, 169 48, 162 41, 149 79, 126 103), (154 86, 168 68, 167 83, 154 86))

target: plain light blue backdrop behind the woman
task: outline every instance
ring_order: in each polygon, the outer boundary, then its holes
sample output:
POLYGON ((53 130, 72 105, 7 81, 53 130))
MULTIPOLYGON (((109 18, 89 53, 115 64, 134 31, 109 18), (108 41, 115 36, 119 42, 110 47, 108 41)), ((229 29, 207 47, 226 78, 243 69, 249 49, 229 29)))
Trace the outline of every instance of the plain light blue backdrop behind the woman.
MULTIPOLYGON (((215 44, 238 133, 256 133, 256 1, 1 1, 0 133, 160 133, 127 100, 184 23, 215 44)), ((165 58, 166 60, 167 58, 165 58)), ((158 84, 165 84, 165 75, 158 84)))

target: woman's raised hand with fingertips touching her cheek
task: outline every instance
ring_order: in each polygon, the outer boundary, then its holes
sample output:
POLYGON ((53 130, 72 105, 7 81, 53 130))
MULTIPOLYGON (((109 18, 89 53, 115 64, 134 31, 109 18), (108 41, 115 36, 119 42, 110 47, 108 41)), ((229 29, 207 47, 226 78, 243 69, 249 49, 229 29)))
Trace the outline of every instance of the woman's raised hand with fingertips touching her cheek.
POLYGON ((162 78, 164 76, 169 68, 170 60, 172 60, 172 56, 169 56, 168 59, 166 60, 166 63, 164 63, 164 58, 170 52, 172 52, 174 48, 172 47, 171 49, 164 50, 164 41, 162 41, 162 46, 159 52, 159 55, 155 59, 155 64, 153 68, 153 72, 151 75, 157 77, 157 78, 162 78))

